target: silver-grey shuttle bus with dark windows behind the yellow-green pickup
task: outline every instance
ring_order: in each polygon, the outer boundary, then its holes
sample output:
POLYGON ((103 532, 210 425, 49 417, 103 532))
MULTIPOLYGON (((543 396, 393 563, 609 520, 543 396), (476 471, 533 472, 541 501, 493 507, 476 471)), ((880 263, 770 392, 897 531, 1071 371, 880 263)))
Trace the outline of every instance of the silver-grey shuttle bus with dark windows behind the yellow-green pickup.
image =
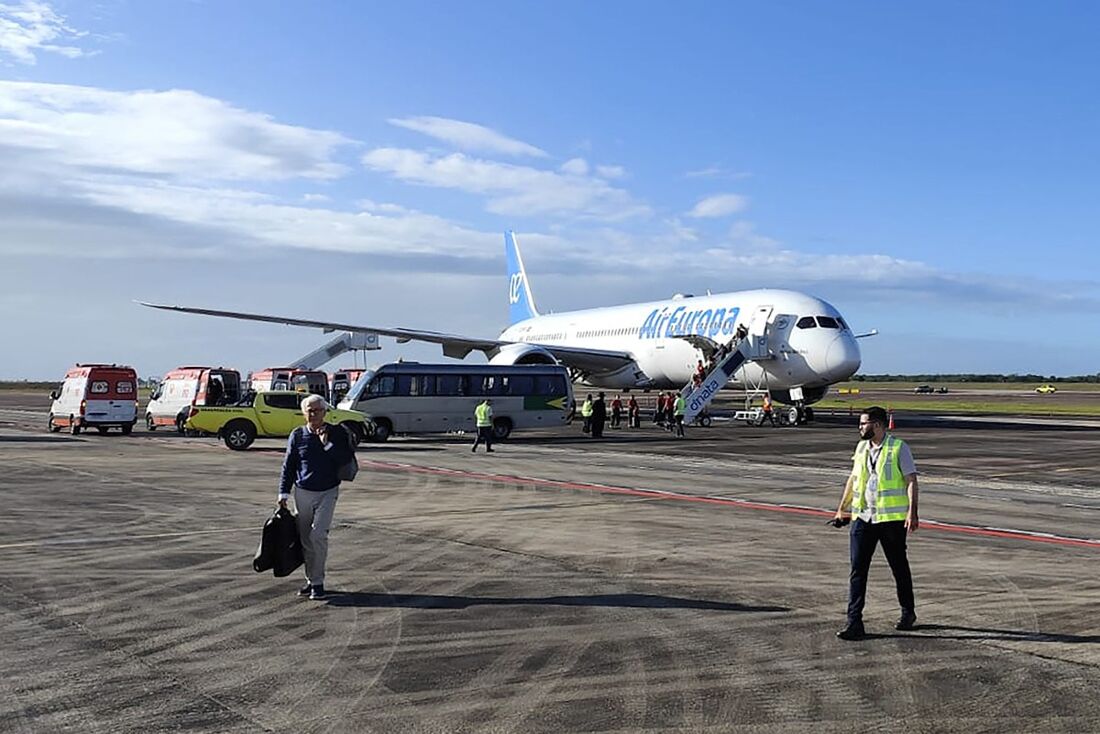
POLYGON ((339 407, 374 421, 375 440, 393 434, 473 431, 474 408, 493 401, 493 437, 516 429, 561 426, 573 388, 559 364, 420 364, 397 362, 367 370, 339 407))

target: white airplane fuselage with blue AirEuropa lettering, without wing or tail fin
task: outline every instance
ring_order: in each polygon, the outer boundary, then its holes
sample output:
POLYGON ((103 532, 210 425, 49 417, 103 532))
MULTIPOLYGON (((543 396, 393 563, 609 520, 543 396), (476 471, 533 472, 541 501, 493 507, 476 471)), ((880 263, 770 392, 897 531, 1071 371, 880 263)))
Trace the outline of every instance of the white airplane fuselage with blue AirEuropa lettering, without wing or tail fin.
POLYGON ((721 344, 741 325, 765 337, 766 352, 735 373, 735 385, 824 388, 859 369, 855 335, 836 308, 794 291, 683 296, 537 316, 512 325, 501 339, 628 352, 635 360, 630 369, 590 373, 586 381, 608 388, 668 390, 690 382, 702 359, 684 336, 702 336, 721 344))

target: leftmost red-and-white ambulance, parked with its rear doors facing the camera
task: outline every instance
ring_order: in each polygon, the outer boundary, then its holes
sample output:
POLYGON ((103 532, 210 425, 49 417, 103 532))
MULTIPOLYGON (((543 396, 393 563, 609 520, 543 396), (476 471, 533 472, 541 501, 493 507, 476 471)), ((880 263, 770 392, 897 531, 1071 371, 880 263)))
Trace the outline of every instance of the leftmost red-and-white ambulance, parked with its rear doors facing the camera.
POLYGON ((120 364, 77 364, 65 374, 61 390, 50 393, 53 432, 68 428, 76 435, 84 428, 106 434, 120 428, 130 434, 138 421, 138 373, 120 364))

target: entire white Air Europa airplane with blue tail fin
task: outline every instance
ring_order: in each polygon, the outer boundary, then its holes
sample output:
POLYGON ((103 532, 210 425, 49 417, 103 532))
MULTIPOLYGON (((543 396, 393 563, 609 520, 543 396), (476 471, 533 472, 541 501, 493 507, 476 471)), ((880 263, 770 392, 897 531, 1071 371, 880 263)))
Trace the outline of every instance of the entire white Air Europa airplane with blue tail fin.
POLYGON ((438 343, 447 357, 483 352, 491 364, 564 364, 574 380, 608 390, 679 390, 700 360, 730 342, 744 326, 755 353, 733 376, 734 387, 765 386, 773 399, 810 405, 860 365, 857 338, 836 308, 795 291, 757 289, 541 315, 515 233, 505 232, 509 326, 496 339, 405 328, 382 328, 263 314, 142 306, 206 316, 371 332, 398 343, 438 343), (792 393, 793 391, 793 393, 792 393))

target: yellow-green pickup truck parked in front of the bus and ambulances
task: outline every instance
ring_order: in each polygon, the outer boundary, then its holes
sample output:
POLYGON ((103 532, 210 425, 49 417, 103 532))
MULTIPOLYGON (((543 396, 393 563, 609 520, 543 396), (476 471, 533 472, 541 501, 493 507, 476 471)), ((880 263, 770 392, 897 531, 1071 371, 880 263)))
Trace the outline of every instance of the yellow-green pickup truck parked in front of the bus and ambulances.
MULTIPOLYGON (((304 397, 302 393, 267 391, 246 394, 235 405, 195 406, 184 428, 213 434, 234 451, 243 451, 257 436, 285 437, 306 425, 300 408, 304 397)), ((343 426, 356 443, 374 432, 371 418, 359 410, 329 408, 324 423, 343 426)))

